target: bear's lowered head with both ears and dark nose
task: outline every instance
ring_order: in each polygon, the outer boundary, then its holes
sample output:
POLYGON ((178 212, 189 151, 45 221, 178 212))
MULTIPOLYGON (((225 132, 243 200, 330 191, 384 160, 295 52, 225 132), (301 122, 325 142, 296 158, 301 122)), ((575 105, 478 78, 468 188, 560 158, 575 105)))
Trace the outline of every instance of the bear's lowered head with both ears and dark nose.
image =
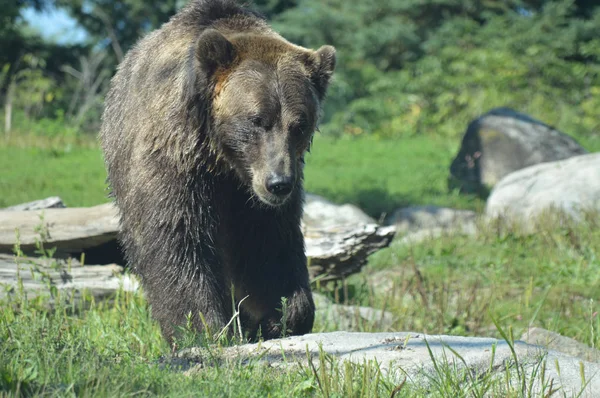
POLYGON ((335 49, 312 51, 274 34, 225 37, 207 29, 196 60, 212 90, 211 144, 252 196, 282 205, 299 186, 335 49))

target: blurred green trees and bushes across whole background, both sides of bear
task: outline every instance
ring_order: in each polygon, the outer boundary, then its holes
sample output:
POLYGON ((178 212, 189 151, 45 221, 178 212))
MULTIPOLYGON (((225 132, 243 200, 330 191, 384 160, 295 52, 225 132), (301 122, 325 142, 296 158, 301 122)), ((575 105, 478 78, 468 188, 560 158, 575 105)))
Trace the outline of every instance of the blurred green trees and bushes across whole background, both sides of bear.
MULTIPOLYGON (((0 28, 0 101, 12 101, 12 129, 43 134, 35 122, 55 119, 65 132, 95 133, 123 54, 185 2, 8 2, 0 28), (56 6, 88 32, 85 43, 44 41, 19 16, 25 7, 56 6)), ((321 128, 328 135, 456 138, 496 106, 577 136, 600 131, 596 1, 255 0, 254 6, 295 43, 336 46, 338 68, 321 128)), ((3 114, 5 121, 6 106, 3 114)))

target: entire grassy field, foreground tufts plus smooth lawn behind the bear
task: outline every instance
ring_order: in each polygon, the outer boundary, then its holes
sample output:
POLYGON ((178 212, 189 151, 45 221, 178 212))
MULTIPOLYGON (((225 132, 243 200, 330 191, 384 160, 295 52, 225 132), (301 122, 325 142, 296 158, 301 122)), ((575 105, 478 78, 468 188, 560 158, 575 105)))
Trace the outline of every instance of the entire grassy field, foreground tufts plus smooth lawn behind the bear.
MULTIPOLYGON (((600 149, 596 139, 586 146, 600 149)), ((357 203, 374 216, 406 204, 481 208, 481 200, 446 189, 456 150, 456 143, 427 137, 319 136, 308 158, 307 188, 357 203)), ((0 146, 0 170, 0 206, 51 195, 69 206, 106 200, 102 157, 93 145, 0 146)), ((475 237, 396 241, 344 284, 315 289, 337 302, 393 314, 389 328, 363 322, 362 331, 500 338, 496 320, 516 338, 539 326, 598 347, 599 226, 600 216, 591 214, 579 224, 548 220, 529 236, 482 226, 475 237)), ((330 324, 314 329, 333 330, 330 324)), ((218 350, 231 343, 190 334, 179 347, 218 350)), ((170 352, 140 295, 120 292, 112 302, 88 302, 85 310, 70 305, 48 310, 19 294, 0 303, 0 396, 389 397, 398 387, 374 365, 348 366, 326 357, 318 359, 317 371, 229 361, 188 376, 159 366, 170 352)), ((447 370, 433 376, 431 390, 406 385, 395 396, 528 396, 501 382, 447 370)))

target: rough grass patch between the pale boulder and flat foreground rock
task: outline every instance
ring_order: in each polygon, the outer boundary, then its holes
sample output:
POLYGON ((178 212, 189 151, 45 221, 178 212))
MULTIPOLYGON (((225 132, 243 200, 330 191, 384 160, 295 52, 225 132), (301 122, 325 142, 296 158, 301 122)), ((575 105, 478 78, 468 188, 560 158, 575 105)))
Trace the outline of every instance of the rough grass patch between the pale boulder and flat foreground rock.
POLYGON ((396 240, 344 291, 392 311, 394 330, 500 338, 496 318, 516 336, 535 325, 598 347, 599 226, 589 214, 581 223, 548 221, 531 235, 488 225, 475 237, 396 240))

